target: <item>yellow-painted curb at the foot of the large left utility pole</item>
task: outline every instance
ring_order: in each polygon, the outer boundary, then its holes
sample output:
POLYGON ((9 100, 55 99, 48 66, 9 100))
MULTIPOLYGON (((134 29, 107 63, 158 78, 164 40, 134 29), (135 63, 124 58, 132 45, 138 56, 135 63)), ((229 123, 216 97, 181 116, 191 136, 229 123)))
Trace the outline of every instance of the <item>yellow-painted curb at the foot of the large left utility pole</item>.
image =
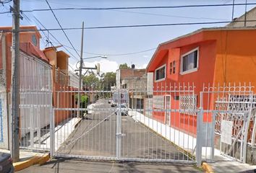
POLYGON ((22 169, 32 166, 33 164, 42 165, 46 163, 48 159, 50 159, 50 154, 43 154, 42 156, 35 155, 25 161, 18 161, 16 163, 13 163, 14 171, 15 172, 20 171, 22 169))

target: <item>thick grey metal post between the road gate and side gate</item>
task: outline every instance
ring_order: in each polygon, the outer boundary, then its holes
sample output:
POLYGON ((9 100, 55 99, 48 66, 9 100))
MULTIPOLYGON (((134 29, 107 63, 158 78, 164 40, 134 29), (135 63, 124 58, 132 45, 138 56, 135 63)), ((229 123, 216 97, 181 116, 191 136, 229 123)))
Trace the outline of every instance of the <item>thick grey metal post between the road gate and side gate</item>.
POLYGON ((197 146, 196 146, 196 161, 197 165, 202 164, 202 117, 203 117, 203 92, 200 92, 200 108, 197 111, 197 146))

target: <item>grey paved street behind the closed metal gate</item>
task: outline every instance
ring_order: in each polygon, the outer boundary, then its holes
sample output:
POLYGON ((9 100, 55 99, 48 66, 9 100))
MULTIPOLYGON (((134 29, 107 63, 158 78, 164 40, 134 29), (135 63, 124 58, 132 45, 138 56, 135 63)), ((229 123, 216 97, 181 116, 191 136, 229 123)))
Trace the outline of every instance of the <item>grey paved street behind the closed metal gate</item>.
MULTIPOLYGON (((106 99, 100 99, 94 111, 69 136, 57 151, 81 156, 116 156, 116 115, 106 99)), ((121 157, 136 159, 189 160, 169 141, 136 123, 130 116, 121 116, 121 157)))

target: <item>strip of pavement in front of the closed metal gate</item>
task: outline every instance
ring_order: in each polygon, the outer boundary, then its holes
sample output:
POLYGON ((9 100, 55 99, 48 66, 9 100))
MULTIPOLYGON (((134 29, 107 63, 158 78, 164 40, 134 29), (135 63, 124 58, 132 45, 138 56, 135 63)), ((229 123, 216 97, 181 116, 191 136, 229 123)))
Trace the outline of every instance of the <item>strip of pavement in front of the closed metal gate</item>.
POLYGON ((155 163, 114 163, 114 162, 94 162, 94 161, 74 161, 74 160, 54 160, 48 161, 43 166, 32 166, 23 169, 20 173, 34 172, 61 172, 61 173, 82 173, 82 172, 202 172, 200 169, 188 164, 155 164, 155 163))

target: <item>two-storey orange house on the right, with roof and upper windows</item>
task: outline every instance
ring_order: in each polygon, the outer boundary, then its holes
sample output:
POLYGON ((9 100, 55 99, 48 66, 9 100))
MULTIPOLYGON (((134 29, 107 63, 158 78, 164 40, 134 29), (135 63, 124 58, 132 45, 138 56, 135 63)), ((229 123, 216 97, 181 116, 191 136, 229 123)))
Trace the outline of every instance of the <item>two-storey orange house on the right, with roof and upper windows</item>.
MULTIPOLYGON (((218 27, 203 28, 161 43, 146 68, 147 73, 153 73, 153 96, 165 95, 165 92, 155 90, 174 83, 193 83, 197 97, 203 84, 251 82, 256 86, 255 37, 255 27, 218 27)), ((179 109, 177 98, 171 97, 172 109, 179 109)), ((196 99, 197 107, 199 102, 196 99)), ((196 133, 196 116, 170 116, 171 125, 179 124, 182 129, 196 133), (189 128, 189 124, 193 127, 189 128)), ((153 112, 153 118, 166 123, 163 112, 153 112)))

